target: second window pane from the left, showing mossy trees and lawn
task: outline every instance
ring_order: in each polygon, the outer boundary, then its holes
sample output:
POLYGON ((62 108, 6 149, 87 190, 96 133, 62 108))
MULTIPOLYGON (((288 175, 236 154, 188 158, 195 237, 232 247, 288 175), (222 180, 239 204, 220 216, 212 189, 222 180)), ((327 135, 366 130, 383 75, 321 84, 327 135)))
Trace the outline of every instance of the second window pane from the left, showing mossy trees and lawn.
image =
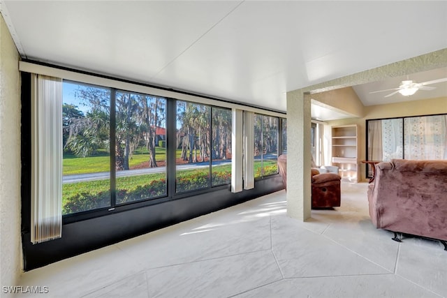
POLYGON ((166 195, 166 99, 117 92, 116 202, 166 195))

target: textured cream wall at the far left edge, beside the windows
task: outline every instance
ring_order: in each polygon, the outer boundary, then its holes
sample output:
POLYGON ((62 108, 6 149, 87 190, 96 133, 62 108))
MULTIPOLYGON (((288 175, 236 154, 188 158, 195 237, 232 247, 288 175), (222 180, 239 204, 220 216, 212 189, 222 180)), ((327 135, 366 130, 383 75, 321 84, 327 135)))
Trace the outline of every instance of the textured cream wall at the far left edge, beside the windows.
POLYGON ((0 15, 0 285, 16 285, 20 240, 19 54, 0 15))

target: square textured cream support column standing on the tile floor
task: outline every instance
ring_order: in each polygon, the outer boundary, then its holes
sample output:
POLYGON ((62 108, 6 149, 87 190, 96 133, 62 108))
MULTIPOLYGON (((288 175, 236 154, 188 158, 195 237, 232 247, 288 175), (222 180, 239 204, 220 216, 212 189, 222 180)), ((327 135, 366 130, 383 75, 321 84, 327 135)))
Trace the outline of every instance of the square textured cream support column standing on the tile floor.
POLYGON ((311 217, 310 96, 301 90, 287 94, 287 216, 311 217))

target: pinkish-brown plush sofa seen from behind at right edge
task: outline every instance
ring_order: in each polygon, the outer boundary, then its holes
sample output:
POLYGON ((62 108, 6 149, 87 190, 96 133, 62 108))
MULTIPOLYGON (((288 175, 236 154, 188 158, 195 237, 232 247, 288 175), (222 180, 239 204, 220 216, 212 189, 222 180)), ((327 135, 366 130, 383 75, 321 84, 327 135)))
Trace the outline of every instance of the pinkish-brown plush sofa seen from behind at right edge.
POLYGON ((447 161, 393 159, 376 165, 368 188, 376 228, 439 239, 447 251, 447 161))

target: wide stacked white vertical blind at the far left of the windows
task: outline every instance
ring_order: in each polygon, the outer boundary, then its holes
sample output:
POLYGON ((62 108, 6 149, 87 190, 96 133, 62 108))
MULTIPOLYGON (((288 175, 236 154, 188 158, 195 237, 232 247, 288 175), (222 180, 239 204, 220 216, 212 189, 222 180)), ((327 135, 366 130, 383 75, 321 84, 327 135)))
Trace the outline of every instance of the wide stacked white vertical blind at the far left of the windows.
POLYGON ((61 237, 62 80, 31 76, 31 242, 61 237))

